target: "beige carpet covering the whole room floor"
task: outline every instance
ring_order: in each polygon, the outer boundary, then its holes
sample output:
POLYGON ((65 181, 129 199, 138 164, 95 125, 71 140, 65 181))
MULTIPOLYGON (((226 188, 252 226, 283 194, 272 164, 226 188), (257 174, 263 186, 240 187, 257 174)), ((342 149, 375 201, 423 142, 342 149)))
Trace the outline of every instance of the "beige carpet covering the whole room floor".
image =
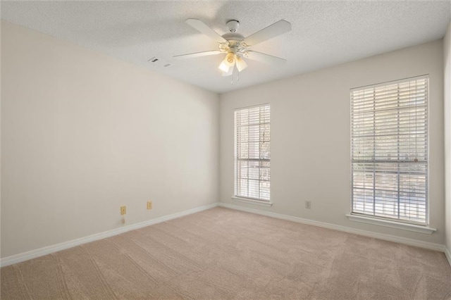
POLYGON ((1 268, 1 299, 451 299, 445 255, 213 208, 1 268))

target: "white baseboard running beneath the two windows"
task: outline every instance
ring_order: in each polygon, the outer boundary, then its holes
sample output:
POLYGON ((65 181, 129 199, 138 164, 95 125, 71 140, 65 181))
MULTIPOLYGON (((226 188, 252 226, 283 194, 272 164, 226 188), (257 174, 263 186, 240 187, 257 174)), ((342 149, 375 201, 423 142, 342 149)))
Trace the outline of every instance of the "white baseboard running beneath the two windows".
POLYGON ((257 213, 259 215, 266 215, 268 217, 289 220, 292 222, 303 223, 303 224, 307 224, 307 225, 314 225, 314 226, 324 227, 324 228, 333 229, 333 230, 340 230, 340 231, 344 231, 344 232, 353 233, 356 235, 364 235, 366 237, 374 237, 376 239, 383 239, 383 240, 389 241, 389 242, 397 242, 397 243, 401 243, 401 244, 407 244, 409 246, 417 246, 417 247, 431 249, 431 250, 435 250, 435 251, 441 251, 441 252, 445 252, 445 255, 447 255, 448 261, 451 262, 450 253, 448 251, 448 253, 446 254, 446 251, 445 251, 446 247, 445 247, 445 245, 442 245, 442 244, 423 242, 423 241, 419 241, 417 239, 407 239, 406 237, 397 237, 395 235, 386 235, 386 234, 378 233, 378 232, 359 230, 359 229, 355 229, 355 228, 351 228, 351 227, 333 225, 330 223, 324 223, 324 222, 319 222, 319 221, 315 221, 315 220, 308 220, 308 219, 304 219, 304 218, 294 217, 292 215, 283 215, 280 213, 272 213, 271 211, 260 211, 259 209, 247 208, 247 207, 243 207, 243 206, 236 206, 233 204, 226 204, 223 202, 220 202, 219 206, 235 209, 237 211, 246 211, 247 213, 257 213))

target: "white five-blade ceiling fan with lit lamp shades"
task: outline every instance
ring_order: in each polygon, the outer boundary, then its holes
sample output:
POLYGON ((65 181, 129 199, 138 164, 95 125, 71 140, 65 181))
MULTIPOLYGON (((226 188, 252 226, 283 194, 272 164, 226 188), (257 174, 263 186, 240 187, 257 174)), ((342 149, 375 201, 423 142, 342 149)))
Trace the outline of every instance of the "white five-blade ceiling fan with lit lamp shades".
POLYGON ((252 35, 249 35, 249 37, 243 37, 237 33, 237 29, 240 27, 240 22, 237 20, 229 20, 227 22, 230 33, 226 33, 222 36, 212 30, 201 20, 187 19, 185 22, 207 37, 210 37, 218 42, 218 50, 182 54, 173 56, 174 58, 194 58, 199 56, 226 54, 226 57, 218 66, 218 68, 222 71, 223 76, 233 75, 235 66, 238 72, 245 70, 245 68, 247 68, 247 63, 244 58, 276 65, 286 62, 285 59, 280 57, 249 50, 251 46, 264 42, 267 39, 277 37, 278 35, 282 35, 285 32, 289 32, 291 30, 291 24, 285 20, 279 20, 278 22, 259 30, 252 35))

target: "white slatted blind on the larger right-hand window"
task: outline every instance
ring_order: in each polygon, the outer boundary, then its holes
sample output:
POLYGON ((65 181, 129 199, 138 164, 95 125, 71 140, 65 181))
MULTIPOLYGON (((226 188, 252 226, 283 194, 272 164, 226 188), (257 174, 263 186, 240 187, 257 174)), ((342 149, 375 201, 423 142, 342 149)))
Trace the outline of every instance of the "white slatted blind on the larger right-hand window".
POLYGON ((428 223, 428 77, 351 89, 352 213, 428 223))

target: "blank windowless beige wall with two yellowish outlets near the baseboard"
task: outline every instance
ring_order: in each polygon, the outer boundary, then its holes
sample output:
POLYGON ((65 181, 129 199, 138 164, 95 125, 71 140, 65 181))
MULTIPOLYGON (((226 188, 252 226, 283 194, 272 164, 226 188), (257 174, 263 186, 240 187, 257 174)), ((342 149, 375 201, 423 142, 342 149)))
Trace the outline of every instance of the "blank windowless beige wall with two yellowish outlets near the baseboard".
POLYGON ((218 201, 217 94, 1 26, 1 257, 218 201))

